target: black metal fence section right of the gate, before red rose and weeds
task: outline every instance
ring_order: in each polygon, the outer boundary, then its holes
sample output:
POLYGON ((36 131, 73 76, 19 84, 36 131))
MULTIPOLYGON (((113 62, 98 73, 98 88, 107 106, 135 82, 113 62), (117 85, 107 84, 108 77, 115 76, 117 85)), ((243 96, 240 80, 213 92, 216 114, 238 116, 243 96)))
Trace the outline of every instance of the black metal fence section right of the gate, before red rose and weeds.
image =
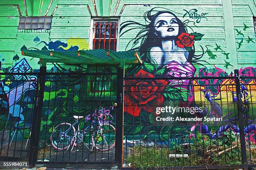
POLYGON ((235 73, 125 77, 123 167, 255 167, 256 77, 235 73))

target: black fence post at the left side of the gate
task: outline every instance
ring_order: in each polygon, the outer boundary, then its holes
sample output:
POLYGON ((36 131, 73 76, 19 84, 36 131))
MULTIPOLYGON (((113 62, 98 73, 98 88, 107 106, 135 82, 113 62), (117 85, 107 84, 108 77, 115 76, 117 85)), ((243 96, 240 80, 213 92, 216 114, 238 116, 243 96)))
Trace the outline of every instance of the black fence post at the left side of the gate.
POLYGON ((39 133, 41 127, 42 107, 44 99, 44 83, 46 77, 46 66, 41 66, 38 73, 38 83, 36 88, 35 106, 33 110, 31 138, 29 142, 29 166, 34 167, 37 161, 39 133))

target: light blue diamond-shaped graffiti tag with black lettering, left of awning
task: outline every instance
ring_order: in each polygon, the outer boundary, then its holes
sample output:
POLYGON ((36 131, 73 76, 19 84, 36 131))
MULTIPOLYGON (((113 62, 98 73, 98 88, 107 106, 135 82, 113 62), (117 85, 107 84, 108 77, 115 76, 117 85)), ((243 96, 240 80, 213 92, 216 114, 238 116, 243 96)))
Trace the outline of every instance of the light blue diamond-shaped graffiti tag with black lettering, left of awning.
MULTIPOLYGON (((10 72, 13 73, 24 73, 24 72, 28 72, 31 69, 31 66, 28 64, 27 60, 25 58, 23 58, 22 60, 20 60, 18 63, 16 63, 13 67, 10 68, 10 72)), ((20 80, 20 78, 23 75, 13 75, 15 76, 18 80, 20 80)))

